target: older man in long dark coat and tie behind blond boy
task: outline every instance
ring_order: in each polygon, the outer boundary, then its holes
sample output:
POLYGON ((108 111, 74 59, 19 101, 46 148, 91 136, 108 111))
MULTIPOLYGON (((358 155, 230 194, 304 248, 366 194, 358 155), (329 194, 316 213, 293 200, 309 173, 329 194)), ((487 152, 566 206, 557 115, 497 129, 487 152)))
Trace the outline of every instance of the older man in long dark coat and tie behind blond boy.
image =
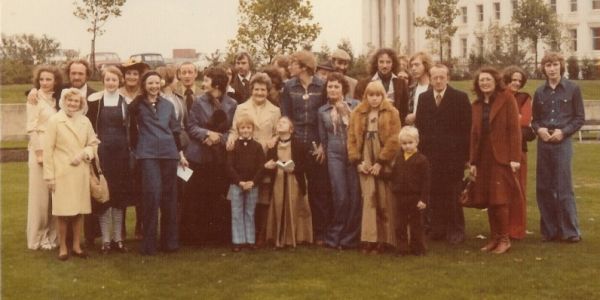
POLYGON ((426 227, 434 240, 458 244, 465 238, 462 207, 457 204, 465 164, 469 160, 471 104, 466 93, 448 85, 449 69, 430 69, 433 89, 419 96, 416 127, 420 151, 431 163, 431 193, 426 227))

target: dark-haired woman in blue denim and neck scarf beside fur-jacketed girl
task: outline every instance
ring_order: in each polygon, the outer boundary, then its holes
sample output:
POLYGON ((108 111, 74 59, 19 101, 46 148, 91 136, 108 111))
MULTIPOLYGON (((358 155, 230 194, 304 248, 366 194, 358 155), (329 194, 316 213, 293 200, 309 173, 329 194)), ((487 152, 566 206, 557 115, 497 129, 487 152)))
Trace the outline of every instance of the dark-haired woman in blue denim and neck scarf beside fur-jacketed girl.
POLYGON ((327 158, 333 195, 333 219, 327 227, 325 243, 336 249, 354 248, 360 236, 361 200, 356 167, 348 160, 346 146, 350 112, 359 104, 344 98, 348 81, 331 73, 323 89, 327 104, 319 108, 319 137, 327 158))

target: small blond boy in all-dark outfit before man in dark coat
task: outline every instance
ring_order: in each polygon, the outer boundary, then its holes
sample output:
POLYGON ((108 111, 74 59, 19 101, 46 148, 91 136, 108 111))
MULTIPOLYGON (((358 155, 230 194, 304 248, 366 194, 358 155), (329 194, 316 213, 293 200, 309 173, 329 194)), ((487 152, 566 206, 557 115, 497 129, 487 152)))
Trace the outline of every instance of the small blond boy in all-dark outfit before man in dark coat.
POLYGON ((397 201, 398 250, 400 255, 410 251, 422 256, 425 255, 422 211, 429 201, 429 161, 417 151, 419 131, 415 127, 403 127, 398 138, 402 149, 396 156, 391 174, 392 192, 397 201))

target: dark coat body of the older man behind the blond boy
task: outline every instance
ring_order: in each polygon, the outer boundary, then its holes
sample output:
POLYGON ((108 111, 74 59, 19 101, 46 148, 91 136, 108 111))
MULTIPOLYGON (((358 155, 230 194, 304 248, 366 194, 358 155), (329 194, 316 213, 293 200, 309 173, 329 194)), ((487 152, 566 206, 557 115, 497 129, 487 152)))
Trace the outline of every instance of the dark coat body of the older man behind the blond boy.
POLYGON ((419 96, 415 126, 419 129, 419 151, 436 171, 462 178, 469 159, 471 104, 467 94, 448 86, 440 106, 430 89, 419 96))

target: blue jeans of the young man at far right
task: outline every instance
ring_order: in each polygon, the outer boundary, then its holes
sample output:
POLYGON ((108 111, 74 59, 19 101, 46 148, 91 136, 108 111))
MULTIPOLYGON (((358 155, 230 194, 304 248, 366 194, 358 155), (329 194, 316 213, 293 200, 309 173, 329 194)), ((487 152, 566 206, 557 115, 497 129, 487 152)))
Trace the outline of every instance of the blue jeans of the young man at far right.
POLYGON ((579 237, 571 174, 571 138, 537 143, 536 197, 545 240, 579 237))

